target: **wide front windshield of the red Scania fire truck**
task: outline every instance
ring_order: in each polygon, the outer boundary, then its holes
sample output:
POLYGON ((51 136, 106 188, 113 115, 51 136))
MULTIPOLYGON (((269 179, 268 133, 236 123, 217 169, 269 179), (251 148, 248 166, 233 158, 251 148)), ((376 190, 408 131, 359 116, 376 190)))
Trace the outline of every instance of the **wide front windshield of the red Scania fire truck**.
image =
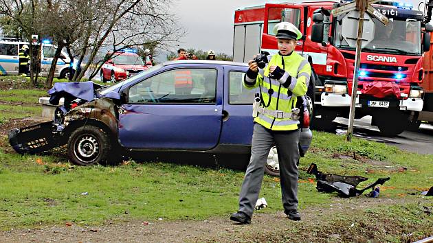
MULTIPOLYGON (((421 21, 414 19, 390 19, 387 26, 380 23, 377 19, 373 20, 371 29, 366 30, 364 27, 364 36, 370 36, 363 41, 362 51, 421 56, 421 21)), ((335 47, 340 49, 355 49, 356 38, 344 32, 353 32, 346 30, 337 21, 335 25, 335 47)), ((355 27, 356 29, 356 27, 355 27)))

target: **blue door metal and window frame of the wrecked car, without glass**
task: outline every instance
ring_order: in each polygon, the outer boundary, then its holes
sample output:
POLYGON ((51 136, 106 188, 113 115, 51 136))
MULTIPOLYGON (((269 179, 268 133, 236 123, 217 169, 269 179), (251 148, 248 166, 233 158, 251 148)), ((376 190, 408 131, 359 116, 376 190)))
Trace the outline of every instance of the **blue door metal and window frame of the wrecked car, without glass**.
POLYGON ((125 148, 210 150, 221 134, 224 69, 221 65, 169 65, 122 87, 165 71, 182 68, 216 69, 216 104, 124 104, 119 115, 119 140, 125 148))

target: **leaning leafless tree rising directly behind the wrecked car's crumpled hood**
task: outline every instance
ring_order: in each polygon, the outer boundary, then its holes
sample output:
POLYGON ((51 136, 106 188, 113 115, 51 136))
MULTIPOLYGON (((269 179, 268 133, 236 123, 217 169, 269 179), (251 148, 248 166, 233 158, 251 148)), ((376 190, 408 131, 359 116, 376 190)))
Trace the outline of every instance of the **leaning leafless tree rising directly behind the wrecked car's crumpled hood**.
POLYGON ((115 15, 106 16, 104 21, 93 25, 89 42, 89 62, 78 75, 80 80, 85 71, 91 66, 101 47, 111 49, 111 55, 96 63, 96 69, 90 74, 90 79, 95 77, 104 61, 112 57, 115 51, 129 47, 142 45, 158 45, 164 47, 177 42, 184 32, 177 26, 177 19, 168 12, 170 0, 143 0, 130 1, 129 5, 116 5, 115 15), (108 23, 104 24, 104 23, 108 23))

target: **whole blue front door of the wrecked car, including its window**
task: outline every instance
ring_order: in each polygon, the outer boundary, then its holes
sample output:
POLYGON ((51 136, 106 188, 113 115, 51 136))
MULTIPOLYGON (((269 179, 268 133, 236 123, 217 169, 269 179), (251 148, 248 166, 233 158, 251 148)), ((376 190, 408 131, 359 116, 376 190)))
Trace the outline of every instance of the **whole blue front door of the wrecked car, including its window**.
POLYGON ((213 148, 221 132, 222 80, 221 67, 173 67, 133 84, 120 108, 120 143, 137 149, 213 148))

